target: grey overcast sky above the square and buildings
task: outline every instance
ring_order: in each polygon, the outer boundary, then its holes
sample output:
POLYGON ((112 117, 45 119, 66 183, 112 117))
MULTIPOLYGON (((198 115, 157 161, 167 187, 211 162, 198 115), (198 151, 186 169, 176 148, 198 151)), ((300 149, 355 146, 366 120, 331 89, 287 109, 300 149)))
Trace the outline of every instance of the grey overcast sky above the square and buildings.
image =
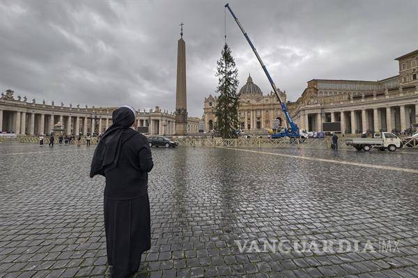
MULTIPOLYGON (((225 0, 226 1, 226 0, 225 0)), ((418 0, 229 1, 274 82, 296 100, 310 79, 376 80, 418 48, 418 0)), ((174 111, 184 22, 189 116, 215 95, 224 1, 0 0, 0 90, 37 102, 174 111)), ((226 13, 240 86, 265 77, 226 13)))

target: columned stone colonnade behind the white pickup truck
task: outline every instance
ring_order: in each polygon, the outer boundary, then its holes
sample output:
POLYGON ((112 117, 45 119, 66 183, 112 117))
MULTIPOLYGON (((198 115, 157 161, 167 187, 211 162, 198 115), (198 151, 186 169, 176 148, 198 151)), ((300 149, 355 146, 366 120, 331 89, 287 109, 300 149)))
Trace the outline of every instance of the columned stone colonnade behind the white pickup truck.
POLYGON ((301 129, 316 132, 323 130, 322 123, 325 122, 340 122, 341 132, 344 133, 355 134, 378 130, 404 132, 412 128, 412 123, 418 123, 418 104, 339 111, 323 109, 316 113, 305 111, 298 120, 301 129))

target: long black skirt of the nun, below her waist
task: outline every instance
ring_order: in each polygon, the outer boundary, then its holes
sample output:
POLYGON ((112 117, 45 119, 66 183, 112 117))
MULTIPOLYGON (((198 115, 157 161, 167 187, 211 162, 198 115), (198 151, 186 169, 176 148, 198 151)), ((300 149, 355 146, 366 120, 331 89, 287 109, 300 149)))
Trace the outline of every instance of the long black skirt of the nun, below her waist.
POLYGON ((142 252, 150 249, 150 203, 148 194, 129 200, 104 197, 104 231, 111 277, 137 272, 142 252))

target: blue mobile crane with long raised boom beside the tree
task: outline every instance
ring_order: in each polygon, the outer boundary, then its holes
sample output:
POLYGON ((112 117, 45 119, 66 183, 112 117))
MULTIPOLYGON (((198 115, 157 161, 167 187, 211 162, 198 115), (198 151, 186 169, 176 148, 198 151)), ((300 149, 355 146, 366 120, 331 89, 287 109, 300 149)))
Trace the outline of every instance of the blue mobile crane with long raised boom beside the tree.
POLYGON ((263 61, 261 61, 261 58, 257 53, 256 47, 254 47, 254 45, 251 43, 251 40, 249 39, 248 34, 244 31, 244 28, 242 28, 242 25, 238 21, 238 18, 235 16, 233 11, 231 10, 231 7, 229 6, 229 3, 226 3, 225 8, 228 8, 228 10, 231 13, 233 19, 235 20, 235 22, 237 22, 237 24, 240 27, 242 33, 244 34, 245 38, 247 39, 247 42, 249 43, 249 46, 253 50, 254 54, 256 54, 258 62, 260 62, 261 68, 263 68, 264 73, 265 73, 265 75, 267 75, 268 81, 270 82, 270 85, 273 88, 274 95, 276 95, 277 100, 279 100, 279 102, 280 102, 281 111, 283 111, 284 116, 286 117, 286 122, 290 126, 290 128, 285 128, 280 133, 272 134, 272 138, 283 138, 283 137, 295 138, 295 137, 299 137, 299 128, 297 127, 295 122, 293 122, 291 114, 289 114, 288 109, 286 107, 286 103, 281 101, 280 95, 279 95, 277 87, 276 87, 276 84, 274 84, 272 77, 270 77, 270 74, 268 73, 267 68, 265 68, 265 65, 264 65, 263 61))

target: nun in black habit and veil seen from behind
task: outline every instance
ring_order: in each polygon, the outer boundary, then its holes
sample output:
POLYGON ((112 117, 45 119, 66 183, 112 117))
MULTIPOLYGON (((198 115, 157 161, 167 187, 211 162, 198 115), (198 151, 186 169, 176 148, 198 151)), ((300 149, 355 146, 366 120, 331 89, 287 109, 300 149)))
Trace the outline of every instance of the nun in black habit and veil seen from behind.
POLYGON ((150 249, 150 203, 148 172, 153 169, 148 139, 130 128, 135 121, 132 107, 112 114, 113 124, 104 132, 91 162, 90 177, 102 175, 104 230, 111 277, 137 272, 142 252, 150 249))

